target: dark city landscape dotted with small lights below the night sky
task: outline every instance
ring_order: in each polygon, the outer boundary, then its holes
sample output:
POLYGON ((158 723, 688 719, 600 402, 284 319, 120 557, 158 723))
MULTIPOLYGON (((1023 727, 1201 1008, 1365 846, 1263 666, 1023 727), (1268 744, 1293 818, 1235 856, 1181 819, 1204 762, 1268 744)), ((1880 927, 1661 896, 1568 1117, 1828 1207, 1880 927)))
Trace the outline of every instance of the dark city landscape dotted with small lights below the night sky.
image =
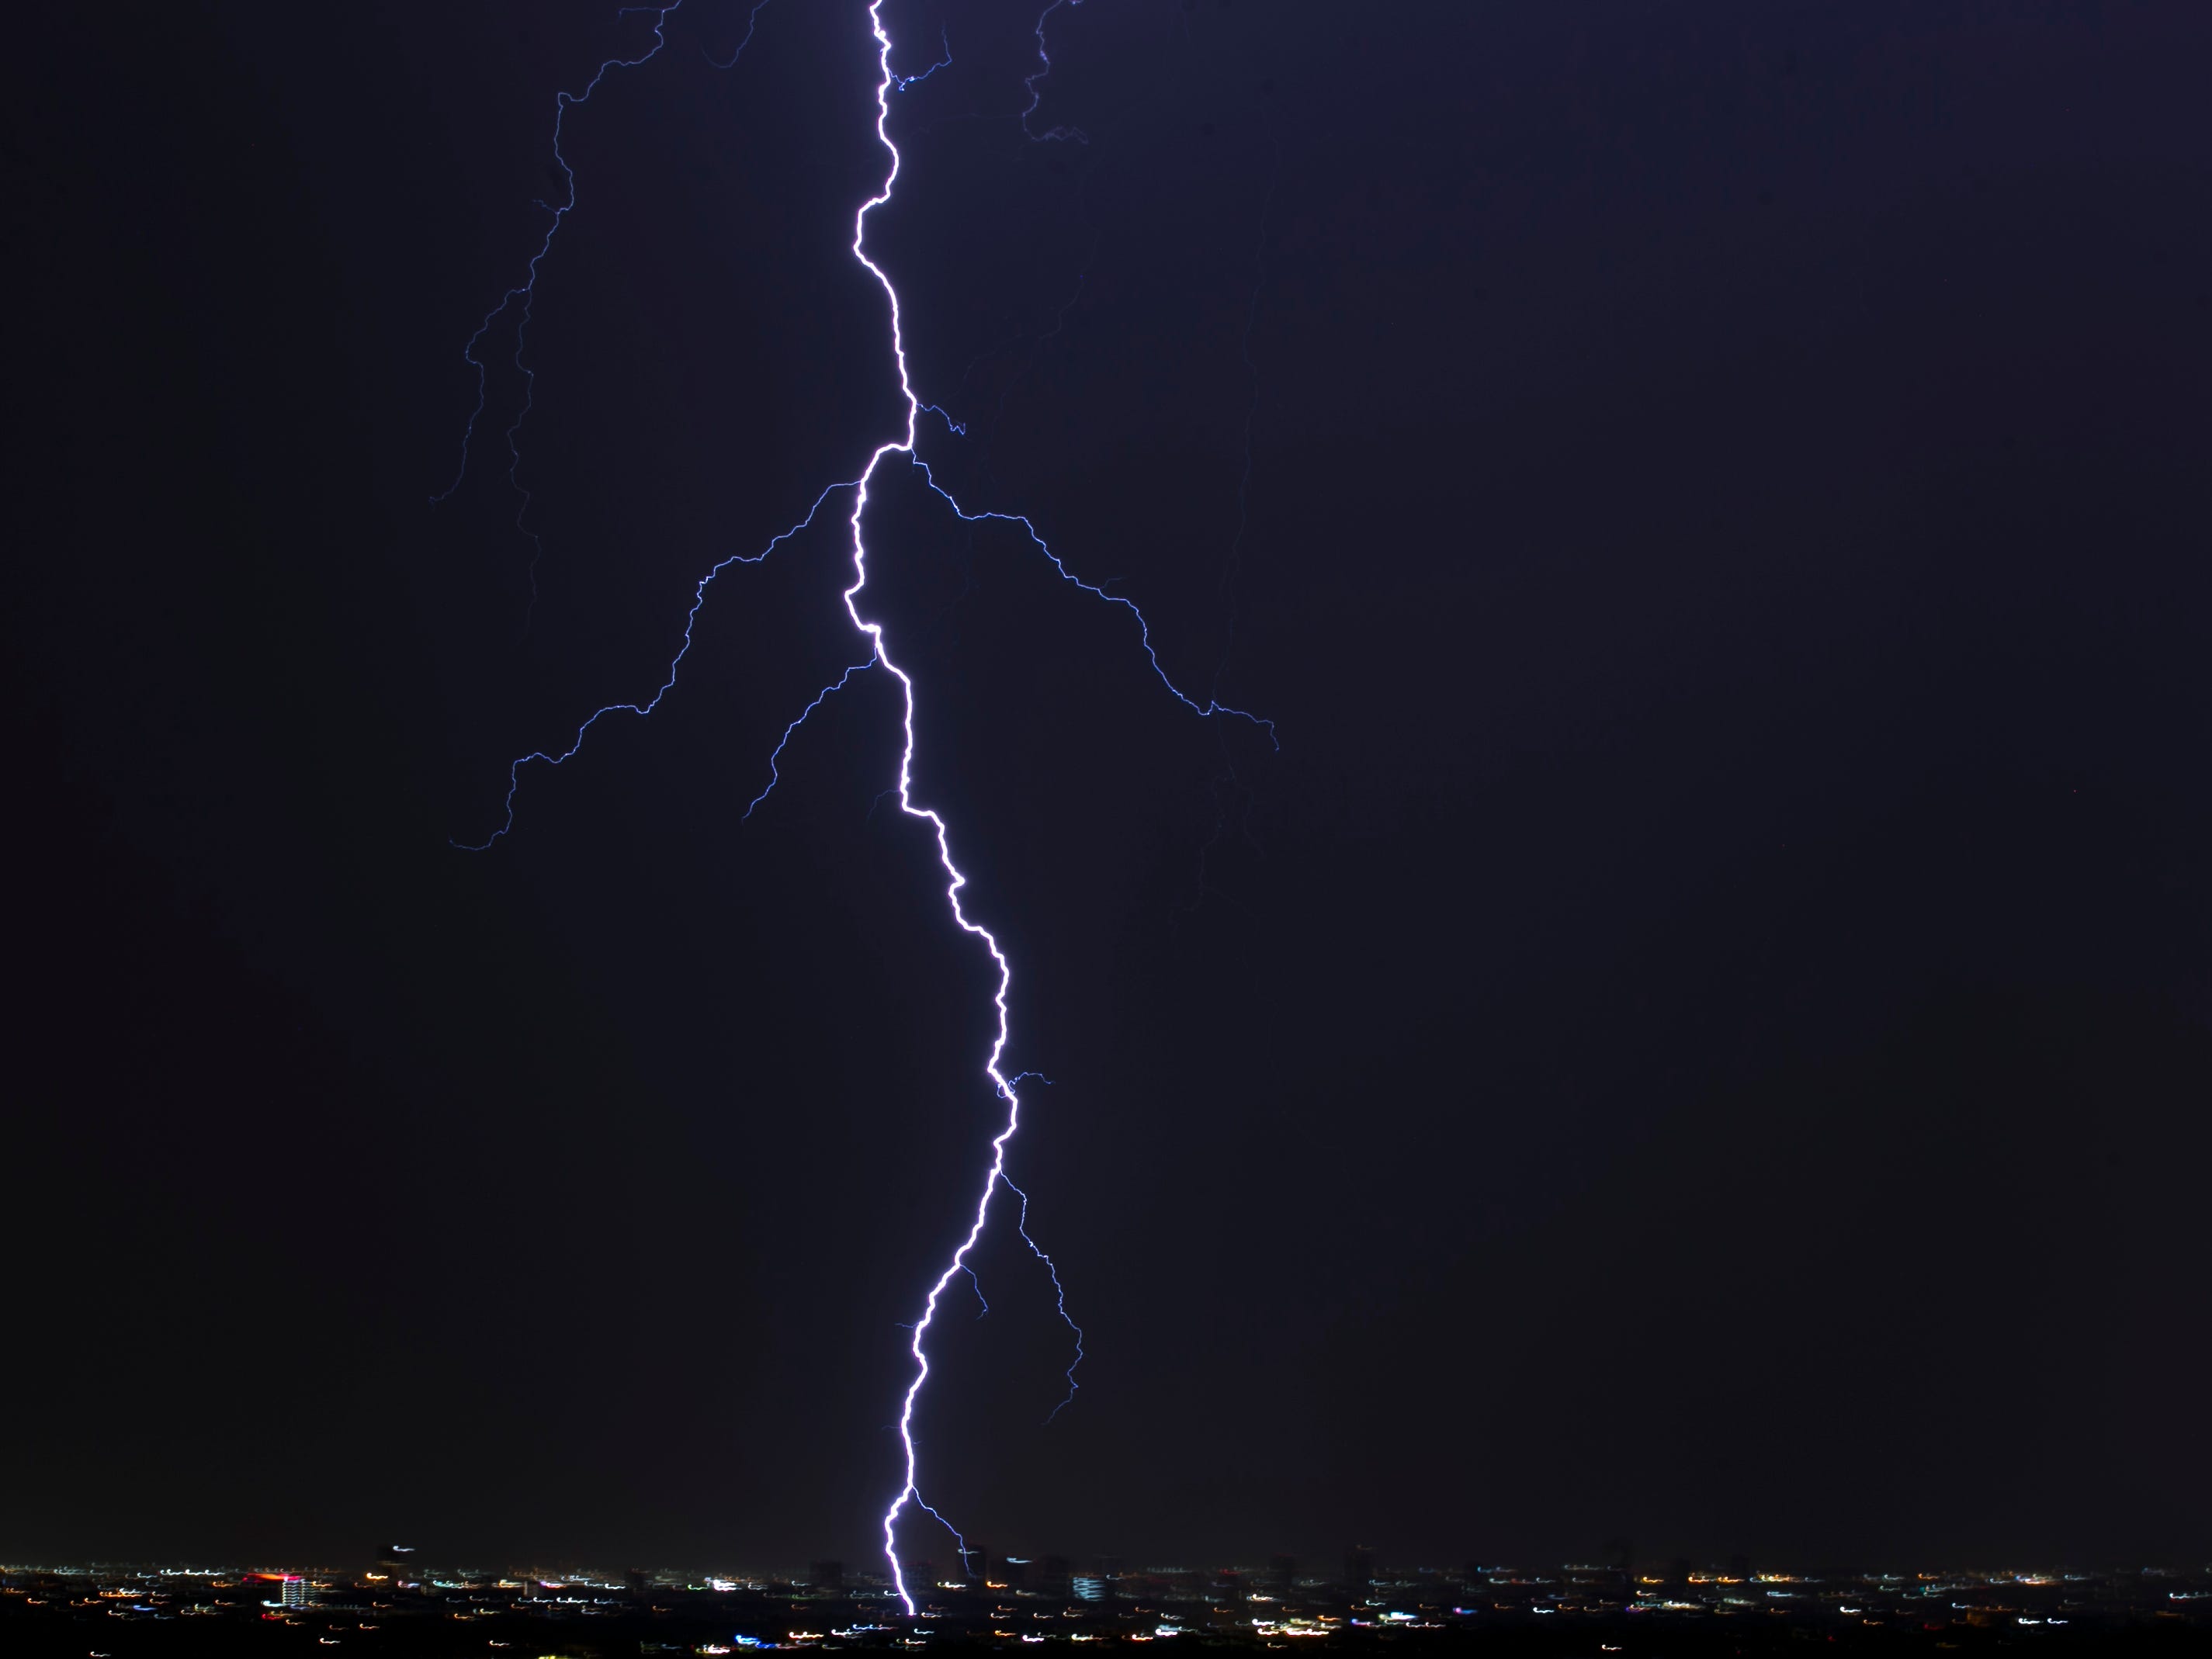
POLYGON ((2212 1655, 2212 1575, 1418 1573, 1363 1595, 1241 1573, 936 1586, 907 1617, 880 1584, 801 1588, 626 1575, 9 1571, 0 1652, 71 1659, 675 1659, 761 1648, 1164 1648, 1489 1655, 2212 1655), (1267 1586, 1267 1588, 1256 1588, 1267 1586), (336 1652, 334 1652, 336 1650, 336 1652))

